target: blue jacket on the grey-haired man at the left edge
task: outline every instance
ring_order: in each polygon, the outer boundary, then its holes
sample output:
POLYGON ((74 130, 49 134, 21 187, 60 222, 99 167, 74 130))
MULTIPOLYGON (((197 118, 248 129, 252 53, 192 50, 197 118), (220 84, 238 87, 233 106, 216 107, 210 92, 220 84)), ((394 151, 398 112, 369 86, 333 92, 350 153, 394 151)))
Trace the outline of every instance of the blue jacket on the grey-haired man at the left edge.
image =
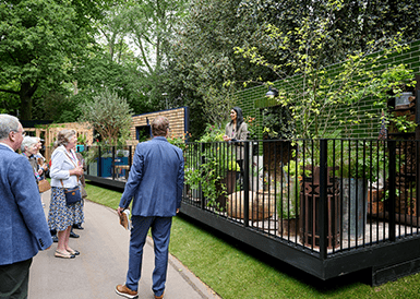
POLYGON ((28 260, 51 243, 28 159, 0 143, 0 265, 28 260))

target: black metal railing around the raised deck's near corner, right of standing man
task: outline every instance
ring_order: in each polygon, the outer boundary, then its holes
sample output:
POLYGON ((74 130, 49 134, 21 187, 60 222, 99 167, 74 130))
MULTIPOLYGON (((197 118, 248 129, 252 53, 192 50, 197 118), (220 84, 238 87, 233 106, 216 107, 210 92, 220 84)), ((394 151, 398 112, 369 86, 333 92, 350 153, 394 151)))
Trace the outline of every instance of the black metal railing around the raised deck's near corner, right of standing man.
POLYGON ((418 141, 189 143, 183 203, 321 256, 419 234, 418 141))

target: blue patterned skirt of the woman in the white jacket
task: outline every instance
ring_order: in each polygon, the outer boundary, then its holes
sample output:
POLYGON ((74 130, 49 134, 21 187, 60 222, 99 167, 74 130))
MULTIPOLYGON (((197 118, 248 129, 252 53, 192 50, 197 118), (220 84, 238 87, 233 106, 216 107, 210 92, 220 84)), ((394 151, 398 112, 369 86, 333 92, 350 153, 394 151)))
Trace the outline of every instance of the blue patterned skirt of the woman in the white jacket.
POLYGON ((82 202, 68 206, 65 204, 64 189, 51 187, 51 201, 48 212, 49 229, 62 231, 73 224, 82 224, 84 220, 82 202))

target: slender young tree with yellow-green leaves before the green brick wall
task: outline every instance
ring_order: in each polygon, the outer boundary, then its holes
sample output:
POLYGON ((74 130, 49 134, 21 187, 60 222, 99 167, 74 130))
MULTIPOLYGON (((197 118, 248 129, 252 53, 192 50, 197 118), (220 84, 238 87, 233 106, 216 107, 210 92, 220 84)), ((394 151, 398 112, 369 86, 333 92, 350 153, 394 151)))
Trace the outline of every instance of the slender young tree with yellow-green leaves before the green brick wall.
MULTIPOLYGON (((367 43, 364 51, 348 53, 340 67, 334 73, 329 72, 324 64, 325 55, 328 53, 325 49, 339 43, 332 39, 337 32, 333 17, 343 7, 336 1, 326 3, 331 14, 325 19, 304 16, 300 26, 288 31, 273 24, 265 26, 265 35, 276 50, 288 52, 287 60, 281 63, 269 61, 256 47, 236 48, 237 53, 256 65, 271 69, 281 80, 275 101, 276 105, 289 109, 296 137, 325 137, 334 122, 357 124, 360 122, 357 106, 363 99, 375 96, 377 108, 383 107, 388 98, 383 95, 389 86, 410 82, 410 72, 404 65, 389 65, 385 71, 376 70, 380 59, 406 49, 398 44, 399 35, 367 43), (339 121, 336 115, 338 108, 347 110, 347 116, 339 121)), ((272 85, 271 82, 265 84, 272 85)), ((380 122, 380 113, 369 113, 368 117, 376 118, 377 123, 380 122)), ((273 132, 276 131, 271 129, 269 133, 273 132)))

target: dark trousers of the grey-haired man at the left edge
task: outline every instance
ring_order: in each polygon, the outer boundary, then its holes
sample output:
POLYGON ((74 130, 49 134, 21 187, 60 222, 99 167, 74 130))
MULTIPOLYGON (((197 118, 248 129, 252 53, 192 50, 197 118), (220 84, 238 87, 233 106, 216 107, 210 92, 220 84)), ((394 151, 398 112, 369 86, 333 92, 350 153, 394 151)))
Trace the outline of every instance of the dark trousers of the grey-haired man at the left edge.
POLYGON ((0 265, 0 298, 27 298, 32 259, 10 265, 0 265))

